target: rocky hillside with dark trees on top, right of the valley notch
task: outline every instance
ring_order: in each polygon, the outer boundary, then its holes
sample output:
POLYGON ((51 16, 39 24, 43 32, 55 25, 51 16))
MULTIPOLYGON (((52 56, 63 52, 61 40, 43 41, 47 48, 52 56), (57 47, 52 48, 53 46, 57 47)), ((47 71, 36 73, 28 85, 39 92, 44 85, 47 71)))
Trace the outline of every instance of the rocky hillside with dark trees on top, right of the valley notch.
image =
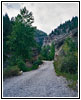
POLYGON ((51 45, 54 42, 55 46, 61 45, 64 40, 69 36, 73 36, 78 33, 78 18, 73 17, 71 21, 67 21, 64 24, 58 26, 49 36, 44 38, 43 46, 51 45))

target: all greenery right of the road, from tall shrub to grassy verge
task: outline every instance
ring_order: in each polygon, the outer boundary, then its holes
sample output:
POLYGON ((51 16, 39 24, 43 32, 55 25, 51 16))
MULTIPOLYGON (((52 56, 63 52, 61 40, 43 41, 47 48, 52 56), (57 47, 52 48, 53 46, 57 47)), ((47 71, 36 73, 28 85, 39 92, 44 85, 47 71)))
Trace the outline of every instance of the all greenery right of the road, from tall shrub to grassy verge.
POLYGON ((62 46, 60 55, 54 61, 55 71, 57 75, 63 75, 69 80, 73 80, 70 84, 75 88, 78 79, 78 45, 73 38, 67 38, 62 46))

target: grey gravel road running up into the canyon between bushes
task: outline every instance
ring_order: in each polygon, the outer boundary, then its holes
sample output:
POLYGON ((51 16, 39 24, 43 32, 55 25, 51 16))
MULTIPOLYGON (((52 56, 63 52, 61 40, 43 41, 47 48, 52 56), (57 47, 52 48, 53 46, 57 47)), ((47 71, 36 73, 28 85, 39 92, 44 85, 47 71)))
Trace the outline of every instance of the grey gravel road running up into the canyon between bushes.
POLYGON ((53 61, 44 61, 37 70, 3 82, 3 97, 77 97, 62 76, 56 76, 53 61))

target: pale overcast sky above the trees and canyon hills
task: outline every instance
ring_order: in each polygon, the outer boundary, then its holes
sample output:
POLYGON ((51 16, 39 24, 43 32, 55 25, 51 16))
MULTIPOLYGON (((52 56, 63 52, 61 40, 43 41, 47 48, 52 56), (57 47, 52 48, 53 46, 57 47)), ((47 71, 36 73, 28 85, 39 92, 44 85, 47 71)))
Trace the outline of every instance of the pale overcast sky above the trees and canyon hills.
POLYGON ((2 12, 10 18, 15 17, 24 6, 33 13, 33 25, 47 34, 73 16, 78 16, 78 3, 3 3, 2 12))

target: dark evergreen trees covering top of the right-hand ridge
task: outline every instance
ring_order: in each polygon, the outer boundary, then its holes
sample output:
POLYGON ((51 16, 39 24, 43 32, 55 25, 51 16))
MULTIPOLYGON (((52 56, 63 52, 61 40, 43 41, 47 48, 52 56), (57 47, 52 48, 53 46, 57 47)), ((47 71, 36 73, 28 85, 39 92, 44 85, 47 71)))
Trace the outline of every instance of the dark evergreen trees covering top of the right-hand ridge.
POLYGON ((52 35, 60 35, 60 34, 67 34, 70 30, 75 29, 78 27, 78 17, 75 16, 72 20, 68 20, 63 24, 60 24, 56 29, 52 30, 50 36, 52 35))

